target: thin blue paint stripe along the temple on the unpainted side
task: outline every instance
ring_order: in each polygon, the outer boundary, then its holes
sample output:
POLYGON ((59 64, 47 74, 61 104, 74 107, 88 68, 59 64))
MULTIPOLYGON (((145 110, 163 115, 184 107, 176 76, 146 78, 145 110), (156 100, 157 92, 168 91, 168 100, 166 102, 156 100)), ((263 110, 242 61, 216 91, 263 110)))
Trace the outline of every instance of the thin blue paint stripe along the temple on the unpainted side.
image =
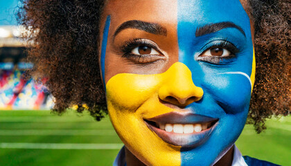
POLYGON ((104 30, 103 30, 103 40, 102 40, 101 57, 100 57, 103 86, 105 89, 106 89, 106 84, 105 84, 105 55, 106 55, 109 26, 110 26, 110 15, 107 16, 104 30))

